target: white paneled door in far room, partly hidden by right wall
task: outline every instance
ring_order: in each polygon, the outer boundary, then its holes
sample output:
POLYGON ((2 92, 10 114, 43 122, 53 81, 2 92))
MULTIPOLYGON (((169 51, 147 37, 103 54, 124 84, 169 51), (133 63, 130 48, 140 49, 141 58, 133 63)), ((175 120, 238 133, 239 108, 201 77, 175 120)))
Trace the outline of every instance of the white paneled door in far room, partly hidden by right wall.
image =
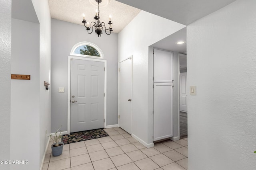
POLYGON ((187 73, 180 73, 180 111, 188 111, 187 73))

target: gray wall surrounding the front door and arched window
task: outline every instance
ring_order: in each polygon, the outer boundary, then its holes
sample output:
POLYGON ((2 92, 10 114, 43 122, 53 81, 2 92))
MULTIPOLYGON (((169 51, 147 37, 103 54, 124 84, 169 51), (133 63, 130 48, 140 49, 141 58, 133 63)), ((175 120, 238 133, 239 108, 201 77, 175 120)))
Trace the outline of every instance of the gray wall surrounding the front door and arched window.
POLYGON ((97 45, 107 61, 107 125, 118 124, 118 34, 101 37, 93 32, 88 34, 83 25, 52 19, 52 106, 51 132, 62 125, 67 131, 68 117, 68 56, 72 47, 87 41, 97 45), (59 93, 58 88, 65 92, 59 93))

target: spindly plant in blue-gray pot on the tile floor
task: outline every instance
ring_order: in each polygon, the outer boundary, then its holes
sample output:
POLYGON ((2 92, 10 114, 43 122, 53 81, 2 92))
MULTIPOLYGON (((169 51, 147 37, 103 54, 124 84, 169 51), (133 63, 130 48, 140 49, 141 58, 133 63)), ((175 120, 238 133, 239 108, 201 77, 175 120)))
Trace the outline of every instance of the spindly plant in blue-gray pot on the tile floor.
POLYGON ((59 156, 62 154, 62 150, 63 150, 63 146, 64 143, 63 142, 59 142, 60 139, 62 138, 61 136, 61 131, 58 132, 60 130, 60 128, 54 133, 55 135, 49 135, 49 137, 53 140, 53 144, 52 144, 52 156, 59 156))

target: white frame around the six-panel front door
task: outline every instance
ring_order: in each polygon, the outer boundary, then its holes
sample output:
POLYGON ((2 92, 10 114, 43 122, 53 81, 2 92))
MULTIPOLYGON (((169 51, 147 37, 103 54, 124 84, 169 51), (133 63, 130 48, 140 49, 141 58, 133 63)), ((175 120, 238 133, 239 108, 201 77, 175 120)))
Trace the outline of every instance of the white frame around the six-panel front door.
POLYGON ((76 57, 76 56, 68 56, 68 133, 70 133, 70 101, 71 101, 71 59, 76 60, 86 60, 86 61, 96 61, 96 62, 103 62, 104 63, 104 128, 107 126, 107 61, 102 59, 92 59, 92 58, 85 58, 85 57, 76 57))

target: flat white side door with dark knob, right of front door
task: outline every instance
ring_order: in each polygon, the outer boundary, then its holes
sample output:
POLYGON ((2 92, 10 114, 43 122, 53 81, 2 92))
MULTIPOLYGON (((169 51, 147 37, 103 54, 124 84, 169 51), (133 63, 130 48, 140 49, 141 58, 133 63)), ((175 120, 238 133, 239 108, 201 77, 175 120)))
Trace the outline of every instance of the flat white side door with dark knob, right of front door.
POLYGON ((132 133, 132 59, 119 64, 119 127, 132 133))

